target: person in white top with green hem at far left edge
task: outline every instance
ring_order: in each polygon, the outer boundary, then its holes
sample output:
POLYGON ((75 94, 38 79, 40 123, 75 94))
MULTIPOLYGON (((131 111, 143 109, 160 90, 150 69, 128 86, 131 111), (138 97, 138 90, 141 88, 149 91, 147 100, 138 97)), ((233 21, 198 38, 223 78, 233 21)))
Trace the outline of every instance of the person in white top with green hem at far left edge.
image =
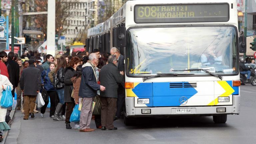
MULTIPOLYGON (((13 86, 11 82, 6 76, 1 75, 1 70, 0 70, 0 100, 3 96, 3 91, 7 90, 8 87, 10 91, 12 91, 13 86)), ((3 140, 3 131, 10 130, 9 125, 5 122, 6 112, 7 112, 7 109, 0 106, 0 142, 3 140)))

